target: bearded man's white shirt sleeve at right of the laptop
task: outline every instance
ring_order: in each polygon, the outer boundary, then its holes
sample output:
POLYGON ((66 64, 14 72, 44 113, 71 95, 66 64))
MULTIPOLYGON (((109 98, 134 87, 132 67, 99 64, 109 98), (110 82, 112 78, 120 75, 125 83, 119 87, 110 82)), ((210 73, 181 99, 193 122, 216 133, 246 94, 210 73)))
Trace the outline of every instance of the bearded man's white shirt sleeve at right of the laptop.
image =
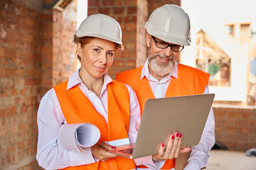
MULTIPOLYGON (((209 94, 208 86, 203 94, 209 94)), ((210 108, 210 113, 206 120, 206 126, 203 129, 203 135, 198 145, 191 147, 191 155, 188 158, 188 164, 184 170, 200 170, 206 167, 208 162, 210 149, 215 143, 215 120, 213 115, 213 108, 210 108)))

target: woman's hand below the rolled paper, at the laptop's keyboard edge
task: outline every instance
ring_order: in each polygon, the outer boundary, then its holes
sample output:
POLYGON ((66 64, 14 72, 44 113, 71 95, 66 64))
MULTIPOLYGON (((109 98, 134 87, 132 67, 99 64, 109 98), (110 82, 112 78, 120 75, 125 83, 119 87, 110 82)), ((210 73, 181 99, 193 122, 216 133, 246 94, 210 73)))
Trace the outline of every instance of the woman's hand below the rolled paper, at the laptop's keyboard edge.
POLYGON ((109 158, 117 157, 116 154, 112 154, 106 151, 106 150, 114 150, 114 149, 116 149, 116 147, 107 145, 105 142, 98 142, 97 144, 91 147, 92 156, 97 159, 100 159, 100 161, 102 162, 107 161, 107 159, 109 158))

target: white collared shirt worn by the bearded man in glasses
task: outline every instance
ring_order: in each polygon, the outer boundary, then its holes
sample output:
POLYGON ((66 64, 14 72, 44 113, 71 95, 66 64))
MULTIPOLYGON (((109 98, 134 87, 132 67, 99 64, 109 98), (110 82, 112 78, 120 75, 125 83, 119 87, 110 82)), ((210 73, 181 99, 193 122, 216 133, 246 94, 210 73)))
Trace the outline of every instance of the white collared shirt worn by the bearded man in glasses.
MULTIPOLYGON (((144 63, 142 67, 141 79, 146 77, 149 80, 149 85, 151 86, 151 90, 156 98, 164 98, 167 88, 171 79, 178 78, 178 62, 175 63, 174 69, 172 72, 161 81, 158 81, 154 77, 149 74, 148 67, 148 59, 144 63)), ((206 86, 203 94, 209 94, 208 86, 206 86)), ((203 135, 198 145, 192 147, 191 157, 188 159, 188 164, 184 170, 199 170, 206 166, 208 162, 208 152, 213 147, 215 143, 215 120, 213 115, 213 108, 210 108, 210 113, 208 115, 208 119, 206 121, 206 126, 203 130, 203 135)))

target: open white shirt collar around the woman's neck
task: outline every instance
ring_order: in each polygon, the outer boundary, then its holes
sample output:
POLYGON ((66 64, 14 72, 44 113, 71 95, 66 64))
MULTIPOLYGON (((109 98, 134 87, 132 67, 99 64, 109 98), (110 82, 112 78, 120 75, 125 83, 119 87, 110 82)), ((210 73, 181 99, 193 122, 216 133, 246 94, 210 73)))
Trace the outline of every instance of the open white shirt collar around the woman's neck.
MULTIPOLYGON (((78 84, 83 84, 82 79, 81 79, 80 76, 79 76, 79 70, 80 70, 80 69, 78 69, 77 71, 75 71, 75 73, 73 73, 73 74, 71 75, 71 77, 68 79, 67 90, 73 88, 73 86, 76 86, 76 85, 78 85, 78 84)), ((110 76, 107 75, 107 74, 104 74, 103 79, 104 79, 104 84, 103 84, 102 89, 106 89, 107 84, 109 84, 110 82, 112 82, 112 79, 111 79, 110 76)), ((86 86, 86 87, 87 87, 87 86, 86 86)))

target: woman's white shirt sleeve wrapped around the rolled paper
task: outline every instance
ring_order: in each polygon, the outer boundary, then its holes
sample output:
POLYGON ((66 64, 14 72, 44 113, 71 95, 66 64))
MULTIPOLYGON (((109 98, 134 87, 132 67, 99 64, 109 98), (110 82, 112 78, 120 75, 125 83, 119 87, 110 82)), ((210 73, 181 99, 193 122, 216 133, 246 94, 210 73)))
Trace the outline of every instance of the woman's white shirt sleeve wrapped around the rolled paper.
POLYGON ((58 146, 58 129, 65 121, 54 89, 41 99, 38 108, 38 148, 36 159, 44 169, 63 169, 95 163, 90 147, 73 152, 58 146))

